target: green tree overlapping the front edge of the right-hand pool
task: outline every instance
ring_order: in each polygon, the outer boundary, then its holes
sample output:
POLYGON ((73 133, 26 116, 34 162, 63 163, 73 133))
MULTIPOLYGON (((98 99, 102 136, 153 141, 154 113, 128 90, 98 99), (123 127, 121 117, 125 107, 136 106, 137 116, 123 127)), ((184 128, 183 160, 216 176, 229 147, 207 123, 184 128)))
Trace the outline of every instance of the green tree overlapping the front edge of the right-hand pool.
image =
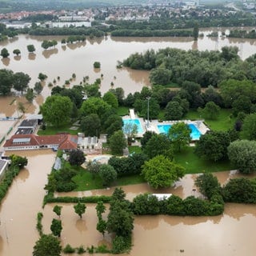
POLYGON ((170 138, 170 142, 172 142, 174 146, 175 151, 180 152, 182 149, 186 148, 186 146, 189 146, 191 141, 190 133, 190 126, 188 126, 185 122, 178 122, 170 126, 168 136, 170 138))

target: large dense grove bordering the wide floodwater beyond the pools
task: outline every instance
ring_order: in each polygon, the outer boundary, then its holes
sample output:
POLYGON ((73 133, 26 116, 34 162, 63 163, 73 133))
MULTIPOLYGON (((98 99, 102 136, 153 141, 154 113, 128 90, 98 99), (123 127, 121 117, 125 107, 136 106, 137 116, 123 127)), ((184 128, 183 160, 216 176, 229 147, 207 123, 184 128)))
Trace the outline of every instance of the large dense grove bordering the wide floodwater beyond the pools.
POLYGON ((151 70, 153 84, 165 86, 174 82, 180 86, 190 81, 202 87, 218 86, 228 79, 254 81, 254 63, 253 57, 242 61, 236 46, 224 46, 222 51, 146 50, 143 54, 131 54, 123 61, 124 66, 133 69, 151 70))

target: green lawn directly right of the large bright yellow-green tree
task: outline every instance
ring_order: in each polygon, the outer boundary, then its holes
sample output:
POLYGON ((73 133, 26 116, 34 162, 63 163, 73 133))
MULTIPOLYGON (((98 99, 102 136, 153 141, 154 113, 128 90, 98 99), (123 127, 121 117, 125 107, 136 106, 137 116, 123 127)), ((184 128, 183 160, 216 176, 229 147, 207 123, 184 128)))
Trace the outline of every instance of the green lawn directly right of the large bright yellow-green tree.
POLYGON ((198 174, 203 171, 218 172, 223 170, 232 170, 229 161, 211 162, 198 158, 194 154, 194 147, 189 147, 186 151, 176 154, 175 162, 186 168, 186 174, 198 174))

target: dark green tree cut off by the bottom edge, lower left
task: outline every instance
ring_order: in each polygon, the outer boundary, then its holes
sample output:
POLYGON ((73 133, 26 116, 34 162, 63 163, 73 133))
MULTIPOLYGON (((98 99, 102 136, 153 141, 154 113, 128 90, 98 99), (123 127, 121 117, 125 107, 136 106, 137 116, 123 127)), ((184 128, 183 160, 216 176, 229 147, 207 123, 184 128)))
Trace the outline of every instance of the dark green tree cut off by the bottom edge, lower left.
POLYGON ((61 256, 62 246, 52 234, 42 234, 35 243, 33 256, 61 256))

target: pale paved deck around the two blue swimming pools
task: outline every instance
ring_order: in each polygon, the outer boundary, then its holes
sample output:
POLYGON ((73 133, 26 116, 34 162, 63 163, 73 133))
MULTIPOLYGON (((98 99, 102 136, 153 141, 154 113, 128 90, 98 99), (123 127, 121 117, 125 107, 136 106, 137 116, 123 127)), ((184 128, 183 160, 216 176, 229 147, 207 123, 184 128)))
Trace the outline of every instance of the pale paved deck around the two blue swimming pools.
POLYGON ((130 115, 126 115, 123 117, 123 119, 138 119, 141 126, 143 133, 137 134, 138 138, 142 138, 143 134, 147 131, 154 131, 156 134, 159 134, 158 125, 174 125, 178 122, 185 122, 186 124, 194 124, 194 126, 200 131, 201 134, 206 134, 208 130, 210 130, 206 124, 204 123, 204 120, 178 120, 178 121, 163 121, 159 122, 158 120, 152 120, 150 122, 147 122, 146 119, 138 118, 137 114, 134 114, 134 110, 130 110, 130 115))

